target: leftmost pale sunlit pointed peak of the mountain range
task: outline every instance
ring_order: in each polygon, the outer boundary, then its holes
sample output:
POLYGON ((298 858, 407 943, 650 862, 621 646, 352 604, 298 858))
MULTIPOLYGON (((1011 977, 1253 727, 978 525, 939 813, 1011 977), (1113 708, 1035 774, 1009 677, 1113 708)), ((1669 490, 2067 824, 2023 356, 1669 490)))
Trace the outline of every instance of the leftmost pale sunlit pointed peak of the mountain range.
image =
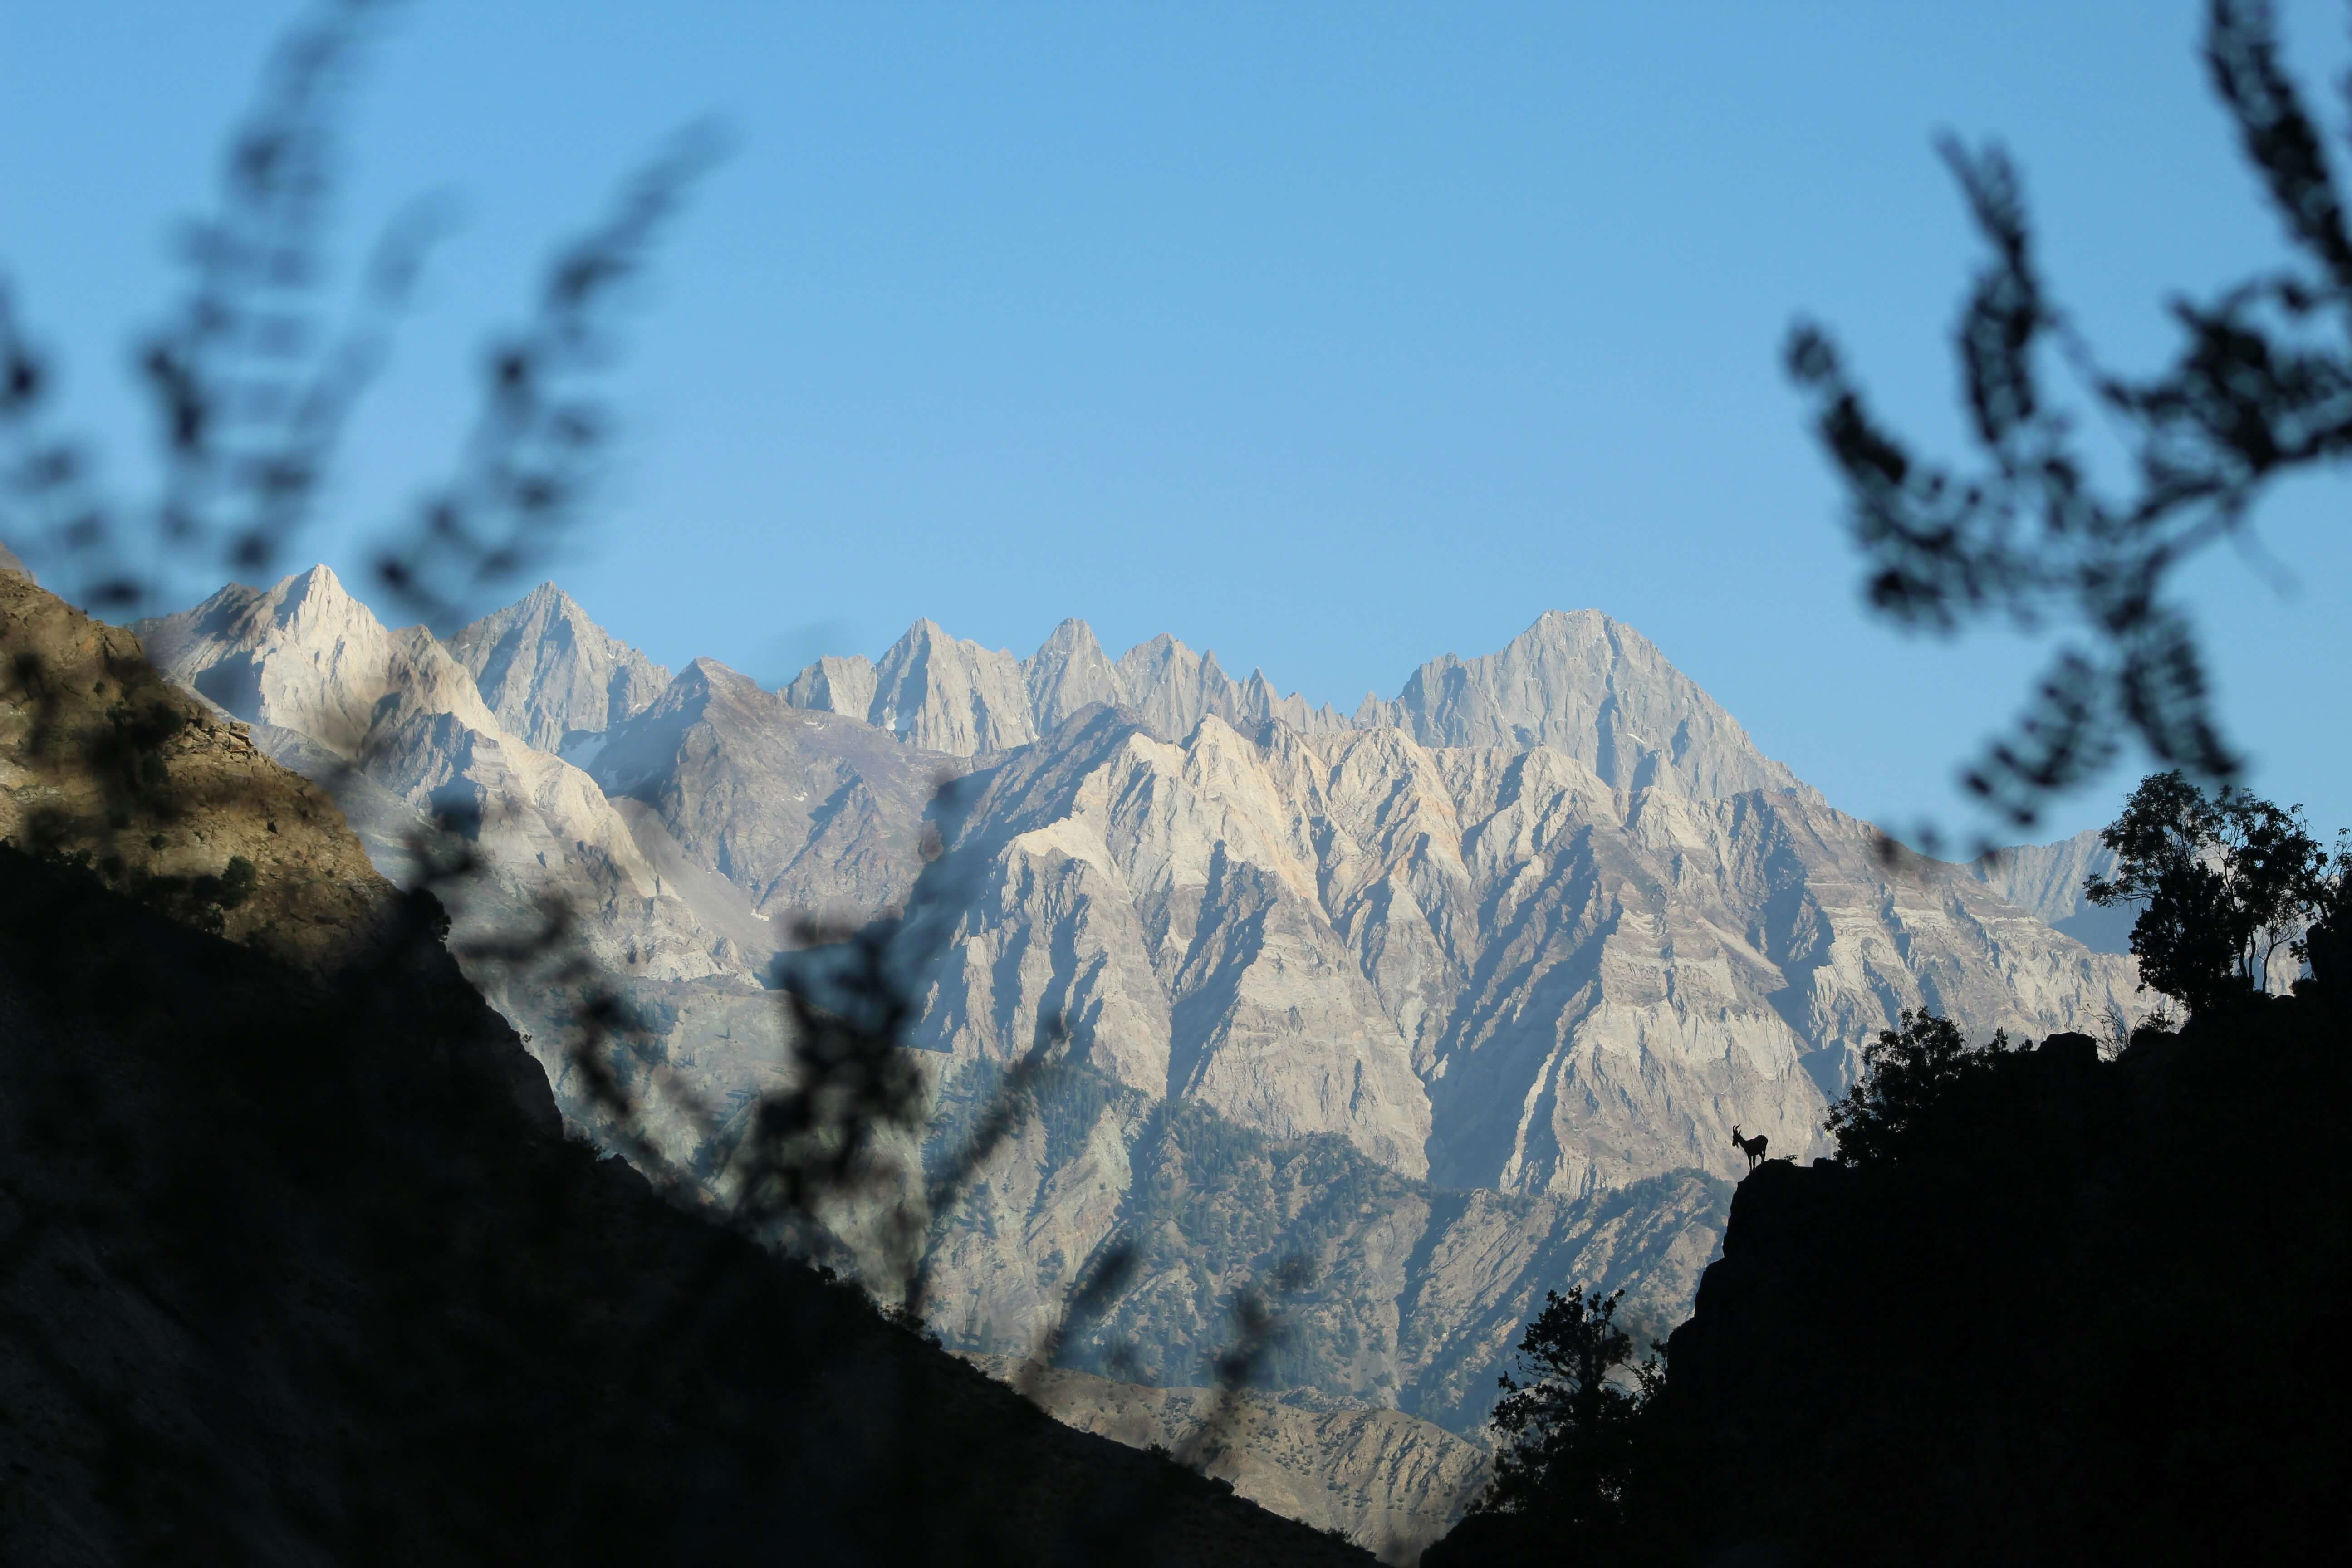
POLYGON ((270 588, 230 583, 195 609, 132 625, 158 670, 252 724, 350 757, 400 693, 496 731, 473 677, 421 625, 386 630, 327 567, 270 588))

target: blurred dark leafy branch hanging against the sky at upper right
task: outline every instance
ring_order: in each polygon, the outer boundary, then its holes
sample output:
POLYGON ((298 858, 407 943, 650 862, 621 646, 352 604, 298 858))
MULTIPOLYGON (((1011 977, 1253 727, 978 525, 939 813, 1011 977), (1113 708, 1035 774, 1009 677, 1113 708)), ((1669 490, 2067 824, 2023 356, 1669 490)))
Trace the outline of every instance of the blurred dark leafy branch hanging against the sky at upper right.
POLYGON ((1867 599, 1898 623, 1955 632, 1987 618, 2070 623, 2032 705, 1966 785, 2013 823, 2105 769, 2126 736, 2199 778, 2237 773, 2204 661, 2173 595, 2178 567, 2244 536, 2256 498, 2352 451, 2352 228, 2319 127, 2279 63, 2265 0, 2211 0, 2213 92, 2237 125, 2293 261, 2211 301, 2176 299, 2173 362, 2131 378, 2098 362, 2049 294, 2009 155, 1943 141, 1992 259, 1957 327, 1976 463, 1922 461, 1879 423, 1830 334, 1799 322, 1788 369, 1844 480, 1867 599), (2063 364, 2093 425, 2053 388, 2063 364), (2103 487, 2084 428, 2129 449, 2103 487))

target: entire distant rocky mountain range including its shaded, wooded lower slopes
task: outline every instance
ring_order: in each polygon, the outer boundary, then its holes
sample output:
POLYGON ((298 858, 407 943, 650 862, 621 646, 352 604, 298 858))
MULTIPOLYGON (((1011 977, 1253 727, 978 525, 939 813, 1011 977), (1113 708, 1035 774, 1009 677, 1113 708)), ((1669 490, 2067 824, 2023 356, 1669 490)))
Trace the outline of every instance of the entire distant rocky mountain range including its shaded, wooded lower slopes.
MULTIPOLYGON (((915 1030, 936 1138, 1004 1063, 1056 1072, 934 1215, 934 1324, 1023 1349, 1141 1237, 1073 1356, 1171 1387, 1303 1251, 1322 1284, 1284 1387, 1470 1432, 1543 1288, 1679 1319, 1745 1168, 1733 1124, 1823 1150, 1900 1009, 1971 1034, 2138 1011, 2131 959, 2049 924, 2079 856, 1889 865, 1599 611, 1352 719, 1174 637, 1110 658, 1082 621, 1028 658, 922 621, 783 691, 668 675, 553 585, 449 644, 325 569, 139 632, 327 783, 388 875, 430 813, 475 813, 492 877, 461 931, 572 900, 708 1103, 776 1084, 764 985, 797 914, 953 922, 915 1030)), ((489 994, 586 1117, 543 1044, 567 997, 489 994)))

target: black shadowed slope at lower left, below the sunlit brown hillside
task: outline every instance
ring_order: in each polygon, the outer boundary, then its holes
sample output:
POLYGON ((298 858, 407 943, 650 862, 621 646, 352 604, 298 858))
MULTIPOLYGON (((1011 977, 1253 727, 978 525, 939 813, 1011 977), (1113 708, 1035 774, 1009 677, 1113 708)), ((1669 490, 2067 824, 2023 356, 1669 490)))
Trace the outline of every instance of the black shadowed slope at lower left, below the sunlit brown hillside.
POLYGON ((388 952, 0 851, 0 1561, 1364 1561, 673 1208, 388 952))

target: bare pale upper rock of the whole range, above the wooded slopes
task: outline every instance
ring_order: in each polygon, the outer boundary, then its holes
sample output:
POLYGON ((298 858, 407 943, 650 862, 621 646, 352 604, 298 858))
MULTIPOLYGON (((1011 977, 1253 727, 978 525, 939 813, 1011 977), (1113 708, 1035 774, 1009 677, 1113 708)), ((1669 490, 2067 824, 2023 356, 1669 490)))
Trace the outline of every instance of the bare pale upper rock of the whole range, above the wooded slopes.
POLYGON ((515 886, 564 889, 626 973, 750 978, 800 912, 934 889, 957 924, 922 1044, 1044 1048, 1446 1185, 1738 1175, 1733 1126, 1820 1147, 1905 1006, 1990 1034, 2138 1001, 2129 959, 1999 896, 2049 903, 2079 856, 2006 882, 1882 863, 1595 611, 1435 661, 1355 724, 1174 637, 1110 661, 1082 621, 1028 661, 922 621, 880 665, 776 693, 694 661, 652 698, 661 670, 553 588, 449 646, 325 569, 141 630, 238 717, 419 813, 482 813, 515 886))

